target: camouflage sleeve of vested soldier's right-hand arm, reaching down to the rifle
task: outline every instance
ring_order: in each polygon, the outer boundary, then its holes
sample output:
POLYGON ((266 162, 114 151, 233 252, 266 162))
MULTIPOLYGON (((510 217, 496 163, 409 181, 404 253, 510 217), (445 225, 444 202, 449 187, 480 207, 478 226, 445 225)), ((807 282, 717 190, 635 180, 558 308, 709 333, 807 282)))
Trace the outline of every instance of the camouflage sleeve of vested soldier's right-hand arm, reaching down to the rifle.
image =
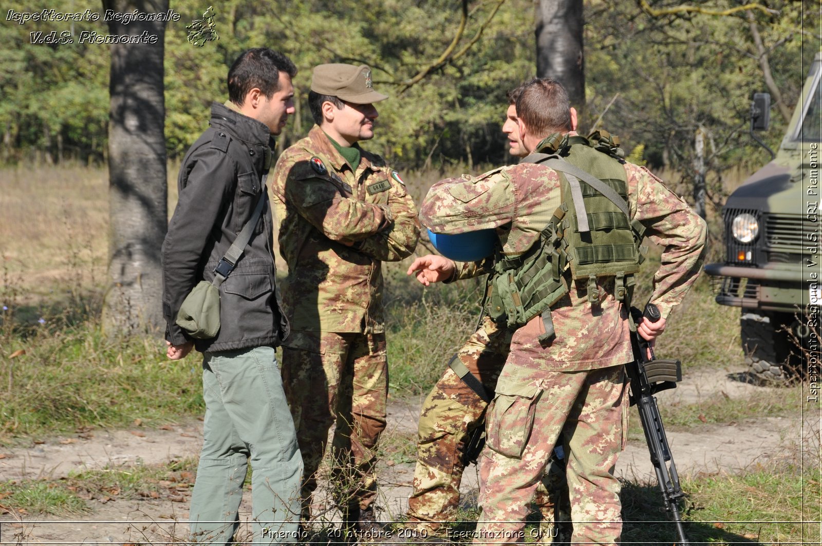
POLYGON ((635 187, 635 220, 645 226, 645 236, 663 247, 661 265, 653 275, 655 303, 667 318, 681 303, 700 274, 708 228, 690 206, 669 190, 648 169, 626 164, 629 186, 635 187))

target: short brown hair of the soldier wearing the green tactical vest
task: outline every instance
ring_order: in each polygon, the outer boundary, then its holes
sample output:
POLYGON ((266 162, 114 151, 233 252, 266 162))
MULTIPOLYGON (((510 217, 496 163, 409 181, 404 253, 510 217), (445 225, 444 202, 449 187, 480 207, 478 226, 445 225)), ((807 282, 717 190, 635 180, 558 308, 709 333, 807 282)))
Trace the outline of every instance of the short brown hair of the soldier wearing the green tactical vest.
POLYGON ((533 78, 516 101, 516 115, 529 133, 543 138, 553 132, 568 132, 570 101, 565 87, 551 78, 533 78))

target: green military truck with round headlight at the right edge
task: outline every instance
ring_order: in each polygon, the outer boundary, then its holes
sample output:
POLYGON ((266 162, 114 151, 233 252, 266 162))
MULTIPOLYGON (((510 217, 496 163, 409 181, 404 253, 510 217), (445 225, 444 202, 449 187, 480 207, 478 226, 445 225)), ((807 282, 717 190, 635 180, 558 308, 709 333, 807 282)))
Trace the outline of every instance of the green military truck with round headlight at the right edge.
MULTIPOLYGON (((705 266, 716 277, 717 303, 741 308, 741 340, 750 372, 785 381, 801 372, 806 343, 822 303, 820 256, 820 141, 822 97, 816 53, 778 152, 742 183, 723 207, 724 263, 705 266)), ((770 97, 755 93, 750 135, 769 125, 770 97)), ((765 146, 767 148, 767 146, 765 146)), ((770 150, 769 150, 770 151, 770 150)))

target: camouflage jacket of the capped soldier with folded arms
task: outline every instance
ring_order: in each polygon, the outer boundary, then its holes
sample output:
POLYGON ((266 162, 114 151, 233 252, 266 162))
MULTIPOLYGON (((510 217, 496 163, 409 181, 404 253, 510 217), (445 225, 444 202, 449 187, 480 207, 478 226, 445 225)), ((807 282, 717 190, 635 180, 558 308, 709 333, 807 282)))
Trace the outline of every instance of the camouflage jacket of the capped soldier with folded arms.
POLYGON ((419 238, 399 174, 365 150, 352 172, 314 126, 280 155, 272 178, 292 329, 384 331, 381 261, 408 257, 419 238))

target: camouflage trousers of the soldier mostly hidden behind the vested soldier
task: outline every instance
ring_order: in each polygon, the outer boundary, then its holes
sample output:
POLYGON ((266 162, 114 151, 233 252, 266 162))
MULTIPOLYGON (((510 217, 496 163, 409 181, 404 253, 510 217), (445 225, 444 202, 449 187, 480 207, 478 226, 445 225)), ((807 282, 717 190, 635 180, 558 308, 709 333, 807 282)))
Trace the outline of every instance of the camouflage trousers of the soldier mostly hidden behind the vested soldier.
MULTIPOLYGON (((457 357, 492 393, 506 362, 511 333, 497 329, 487 317, 483 326, 463 345, 457 357)), ((409 497, 409 527, 436 532, 442 522, 455 521, 459 508, 459 484, 464 471, 463 453, 473 431, 484 426, 487 403, 452 370, 446 372, 428 394, 420 412, 417 466, 409 497)), ((549 473, 535 500, 543 525, 552 525, 552 497, 564 486, 561 473, 549 473), (557 479, 559 476, 560 479, 557 479), (549 495, 548 491, 553 494, 549 495)))

